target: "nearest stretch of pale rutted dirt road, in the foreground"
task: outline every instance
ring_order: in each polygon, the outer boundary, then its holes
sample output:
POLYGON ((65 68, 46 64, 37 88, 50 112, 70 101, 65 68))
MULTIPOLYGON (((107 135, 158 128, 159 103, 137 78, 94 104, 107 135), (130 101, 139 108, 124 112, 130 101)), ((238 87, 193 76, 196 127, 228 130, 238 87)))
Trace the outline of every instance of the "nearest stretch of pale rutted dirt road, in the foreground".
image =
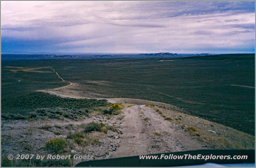
POLYGON ((203 142, 191 139, 184 131, 164 120, 155 108, 136 105, 123 109, 124 118, 117 150, 111 157, 125 157, 182 150, 205 149, 203 142))

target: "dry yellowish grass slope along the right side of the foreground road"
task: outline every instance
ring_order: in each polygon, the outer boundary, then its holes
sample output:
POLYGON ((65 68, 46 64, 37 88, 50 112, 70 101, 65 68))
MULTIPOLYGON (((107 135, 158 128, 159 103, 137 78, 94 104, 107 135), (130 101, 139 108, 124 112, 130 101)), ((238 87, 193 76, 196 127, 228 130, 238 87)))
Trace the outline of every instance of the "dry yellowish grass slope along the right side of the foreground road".
POLYGON ((255 136, 192 115, 161 109, 165 118, 215 149, 255 149, 255 136), (184 127, 187 125, 188 127, 184 127), (216 134, 209 132, 213 130, 216 134))

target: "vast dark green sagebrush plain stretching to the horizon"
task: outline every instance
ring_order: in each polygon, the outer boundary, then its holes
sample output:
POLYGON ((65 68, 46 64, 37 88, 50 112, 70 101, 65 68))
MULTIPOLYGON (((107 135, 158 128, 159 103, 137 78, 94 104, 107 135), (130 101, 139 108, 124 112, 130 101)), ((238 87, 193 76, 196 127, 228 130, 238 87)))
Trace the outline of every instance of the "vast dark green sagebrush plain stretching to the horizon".
MULTIPOLYGON (((22 112, 22 104, 16 106, 16 103, 15 108, 10 104, 33 91, 68 84, 55 73, 14 72, 6 66, 51 66, 64 80, 78 83, 77 91, 81 94, 91 92, 102 98, 164 102, 184 108, 189 114, 254 135, 254 54, 162 60, 170 58, 2 61, 2 113, 22 112)), ((50 68, 43 70, 51 71, 50 68)))

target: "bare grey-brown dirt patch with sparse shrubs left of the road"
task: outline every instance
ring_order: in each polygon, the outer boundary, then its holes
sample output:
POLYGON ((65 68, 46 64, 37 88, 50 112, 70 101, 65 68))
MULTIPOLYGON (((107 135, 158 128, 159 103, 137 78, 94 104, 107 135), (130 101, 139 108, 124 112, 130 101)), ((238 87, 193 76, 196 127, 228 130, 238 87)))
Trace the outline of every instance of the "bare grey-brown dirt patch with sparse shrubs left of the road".
MULTIPOLYGON (((40 154, 47 155, 49 151, 45 150, 45 143, 49 139, 67 138, 67 135, 84 131, 84 125, 89 122, 103 122, 112 124, 113 119, 104 120, 103 115, 95 114, 91 117, 85 117, 83 120, 75 121, 71 119, 64 120, 1 120, 1 155, 9 154, 40 154)), ((117 116, 114 116, 117 117, 117 116)), ((91 155, 94 159, 109 157, 113 152, 112 147, 118 144, 120 139, 115 139, 120 135, 118 130, 105 133, 91 132, 91 137, 99 138, 99 143, 79 146, 74 143, 64 153, 71 153, 75 150, 78 155, 91 155)), ((52 154, 52 153, 50 153, 52 154)), ((61 154, 61 153, 60 153, 61 154)), ((73 160, 74 165, 84 160, 73 160)))

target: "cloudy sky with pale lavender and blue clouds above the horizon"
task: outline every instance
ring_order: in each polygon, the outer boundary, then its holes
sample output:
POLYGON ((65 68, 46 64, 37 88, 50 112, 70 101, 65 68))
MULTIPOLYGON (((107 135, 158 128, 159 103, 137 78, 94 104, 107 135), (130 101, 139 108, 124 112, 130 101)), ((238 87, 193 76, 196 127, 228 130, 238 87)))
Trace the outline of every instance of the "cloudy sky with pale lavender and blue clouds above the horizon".
POLYGON ((1 1, 1 53, 255 53, 255 1, 1 1))

